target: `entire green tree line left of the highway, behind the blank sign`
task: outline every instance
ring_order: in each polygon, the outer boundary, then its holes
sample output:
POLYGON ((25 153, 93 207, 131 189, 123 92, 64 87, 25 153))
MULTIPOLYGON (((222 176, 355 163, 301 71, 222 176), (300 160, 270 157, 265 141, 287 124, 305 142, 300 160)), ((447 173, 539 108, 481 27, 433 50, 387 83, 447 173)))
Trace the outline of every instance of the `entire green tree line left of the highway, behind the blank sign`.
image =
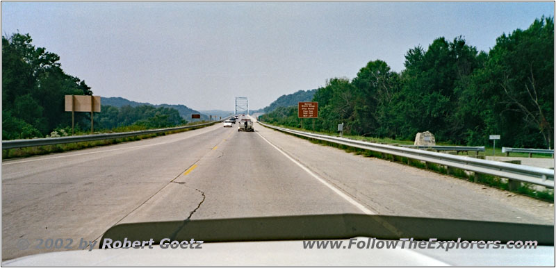
MULTIPOLYGON (((71 129, 72 115, 65 112, 64 96, 92 95, 85 81, 63 71, 56 53, 35 47, 32 41, 28 34, 2 36, 2 140, 44 137, 57 129, 71 129)), ((95 129, 186 123, 177 110, 153 106, 102 106, 94 121, 95 129)), ((77 131, 88 131, 90 113, 76 112, 75 122, 77 131)))

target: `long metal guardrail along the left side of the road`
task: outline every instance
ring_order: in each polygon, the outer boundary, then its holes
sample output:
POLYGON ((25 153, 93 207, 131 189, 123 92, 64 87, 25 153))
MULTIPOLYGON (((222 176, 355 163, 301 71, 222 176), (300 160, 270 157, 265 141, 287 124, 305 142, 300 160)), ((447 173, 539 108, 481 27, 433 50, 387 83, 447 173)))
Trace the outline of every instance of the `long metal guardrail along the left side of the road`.
POLYGON ((216 124, 218 122, 223 122, 224 120, 227 120, 230 117, 226 117, 218 121, 204 123, 204 124, 197 124, 197 125, 190 125, 190 126, 177 126, 174 128, 149 129, 146 131, 104 133, 104 134, 79 135, 79 136, 67 136, 67 137, 45 137, 40 139, 3 140, 2 149, 4 150, 4 149, 14 149, 14 148, 23 148, 23 147, 31 147, 31 146, 65 144, 65 143, 72 143, 72 142, 92 142, 94 140, 109 140, 109 139, 117 139, 120 137, 132 137, 132 136, 162 133, 168 131, 179 131, 181 129, 195 128, 198 126, 208 126, 211 124, 216 124))

